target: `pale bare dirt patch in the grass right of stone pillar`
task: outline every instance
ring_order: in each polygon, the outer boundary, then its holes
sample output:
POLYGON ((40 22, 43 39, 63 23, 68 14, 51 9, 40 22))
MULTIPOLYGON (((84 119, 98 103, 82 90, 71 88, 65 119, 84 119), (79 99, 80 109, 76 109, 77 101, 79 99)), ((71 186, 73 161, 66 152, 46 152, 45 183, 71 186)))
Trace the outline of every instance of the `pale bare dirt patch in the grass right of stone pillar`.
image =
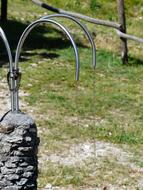
POLYGON ((143 173, 143 168, 135 166, 130 160, 133 158, 131 152, 125 152, 121 148, 111 143, 102 141, 85 142, 73 145, 68 151, 60 152, 59 154, 48 154, 45 152, 41 160, 51 161, 62 165, 84 164, 87 159, 114 157, 119 164, 129 166, 130 168, 143 173))

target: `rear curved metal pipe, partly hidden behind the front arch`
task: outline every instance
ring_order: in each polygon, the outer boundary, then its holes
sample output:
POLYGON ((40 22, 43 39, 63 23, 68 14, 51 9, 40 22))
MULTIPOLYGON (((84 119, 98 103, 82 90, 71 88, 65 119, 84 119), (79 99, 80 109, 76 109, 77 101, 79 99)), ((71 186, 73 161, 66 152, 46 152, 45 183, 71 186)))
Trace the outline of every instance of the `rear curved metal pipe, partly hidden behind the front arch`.
POLYGON ((50 18, 54 18, 54 17, 63 17, 63 18, 70 19, 73 22, 75 22, 76 24, 78 24, 83 29, 86 36, 88 37, 88 40, 91 44, 91 47, 92 47, 92 65, 93 65, 93 68, 95 69, 95 67, 96 67, 96 46, 95 46, 95 43, 93 41, 92 35, 90 34, 86 25, 82 24, 77 18, 74 18, 74 17, 69 16, 69 15, 65 15, 65 14, 52 14, 52 15, 41 17, 41 19, 50 19, 50 18))

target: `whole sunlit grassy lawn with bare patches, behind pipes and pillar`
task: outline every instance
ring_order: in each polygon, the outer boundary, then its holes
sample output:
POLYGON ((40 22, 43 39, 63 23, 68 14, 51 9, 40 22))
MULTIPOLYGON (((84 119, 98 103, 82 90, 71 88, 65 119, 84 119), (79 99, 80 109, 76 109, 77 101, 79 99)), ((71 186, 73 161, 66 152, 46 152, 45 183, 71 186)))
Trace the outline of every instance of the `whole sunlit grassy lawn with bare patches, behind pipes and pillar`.
MULTIPOLYGON (((63 9, 117 20, 115 1, 51 2, 63 9)), ((139 0, 126 1, 128 31, 143 37, 141 6, 139 0)), ((9 0, 9 21, 2 27, 13 54, 24 28, 45 14, 44 9, 28 0, 9 0)), ((50 183, 69 190, 142 190, 143 45, 129 42, 129 64, 123 66, 120 41, 114 31, 88 24, 91 32, 97 33, 94 71, 91 49, 83 33, 72 23, 64 23, 71 28, 79 47, 78 82, 74 79, 74 51, 65 35, 52 26, 39 26, 33 31, 20 61, 21 91, 28 93, 21 97, 25 102, 22 110, 35 118, 41 138, 39 189, 50 183), (85 147, 92 156, 82 160, 85 147), (96 154, 96 150, 100 151, 96 154)), ((6 56, 1 49, 0 73, 5 73, 6 56)))

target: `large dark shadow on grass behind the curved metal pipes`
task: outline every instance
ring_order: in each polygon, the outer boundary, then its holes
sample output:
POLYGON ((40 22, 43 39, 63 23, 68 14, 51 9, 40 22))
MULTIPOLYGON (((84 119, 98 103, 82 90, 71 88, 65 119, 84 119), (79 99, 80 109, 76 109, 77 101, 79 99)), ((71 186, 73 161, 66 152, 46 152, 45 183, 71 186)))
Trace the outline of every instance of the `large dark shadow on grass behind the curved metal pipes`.
MULTIPOLYGON (((15 20, 9 20, 6 23, 2 24, 2 28, 7 36, 7 39, 10 43, 12 54, 14 57, 16 46, 18 40, 23 33, 24 29, 29 25, 15 20)), ((55 27, 52 27, 51 24, 44 24, 37 26, 29 35, 25 44, 23 46, 24 50, 31 50, 28 53, 22 53, 21 61, 28 60, 30 56, 38 55, 41 58, 54 59, 59 57, 57 53, 37 53, 32 52, 36 49, 47 49, 56 50, 56 49, 65 49, 71 46, 71 42, 65 38, 66 34, 63 31, 58 30, 55 27), (48 26, 48 27, 47 27, 48 26), (57 33, 57 34, 56 34, 57 33), (49 34, 49 36, 48 36, 49 34), (46 36, 45 36, 46 35, 46 36), (47 37, 48 36, 48 37, 47 37)), ((1 40, 2 42, 2 40, 1 40)), ((80 47, 85 47, 80 42, 77 43, 80 47)), ((8 61, 7 52, 5 50, 4 44, 0 45, 0 67, 6 64, 8 61)))

